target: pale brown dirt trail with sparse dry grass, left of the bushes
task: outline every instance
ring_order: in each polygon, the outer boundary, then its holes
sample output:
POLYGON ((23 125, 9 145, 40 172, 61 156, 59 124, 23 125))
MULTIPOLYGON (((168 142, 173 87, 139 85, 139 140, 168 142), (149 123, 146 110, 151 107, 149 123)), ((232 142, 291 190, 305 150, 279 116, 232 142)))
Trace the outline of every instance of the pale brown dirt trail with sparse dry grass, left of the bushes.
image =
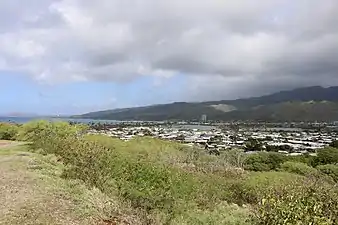
POLYGON ((69 192, 57 188, 64 182, 61 178, 47 177, 36 169, 42 166, 33 154, 10 152, 9 148, 18 143, 0 144, 1 225, 99 224, 90 213, 81 216, 75 213, 82 206, 74 202, 69 192))

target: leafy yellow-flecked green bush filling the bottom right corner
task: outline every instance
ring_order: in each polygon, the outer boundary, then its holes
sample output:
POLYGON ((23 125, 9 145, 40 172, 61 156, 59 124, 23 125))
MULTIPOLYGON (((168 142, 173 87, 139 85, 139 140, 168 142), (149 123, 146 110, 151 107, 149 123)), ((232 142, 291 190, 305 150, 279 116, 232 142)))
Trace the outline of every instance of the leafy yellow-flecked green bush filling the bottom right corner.
POLYGON ((292 183, 267 192, 256 216, 262 225, 334 225, 338 223, 337 189, 316 181, 292 183))

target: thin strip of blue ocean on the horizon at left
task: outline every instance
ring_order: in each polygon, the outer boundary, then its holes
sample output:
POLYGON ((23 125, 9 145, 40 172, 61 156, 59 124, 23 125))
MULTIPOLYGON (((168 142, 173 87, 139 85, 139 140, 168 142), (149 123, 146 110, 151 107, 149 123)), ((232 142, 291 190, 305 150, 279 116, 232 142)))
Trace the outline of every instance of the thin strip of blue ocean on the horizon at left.
POLYGON ((68 122, 78 122, 78 123, 110 123, 117 124, 121 121, 116 120, 92 120, 92 119, 74 119, 74 118, 56 118, 56 117, 0 117, 0 122, 12 122, 23 124, 33 120, 48 120, 48 121, 68 121, 68 122))

